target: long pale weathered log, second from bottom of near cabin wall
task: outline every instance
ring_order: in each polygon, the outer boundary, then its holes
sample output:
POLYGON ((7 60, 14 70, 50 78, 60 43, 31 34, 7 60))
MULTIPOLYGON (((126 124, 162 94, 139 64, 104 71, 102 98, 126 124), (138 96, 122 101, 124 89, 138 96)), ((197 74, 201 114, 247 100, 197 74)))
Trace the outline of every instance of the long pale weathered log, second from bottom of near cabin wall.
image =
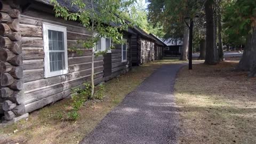
MULTIPOLYGON (((101 69, 103 70, 103 67, 101 69)), ((102 70, 98 74, 95 74, 95 78, 97 78, 98 76, 101 76, 101 77, 103 76, 102 70)), ((34 102, 34 101, 37 101, 37 100, 41 100, 41 99, 44 99, 46 97, 49 97, 50 95, 57 94, 57 93, 60 93, 62 91, 71 89, 75 86, 78 86, 78 85, 81 85, 85 82, 90 81, 90 78, 91 78, 91 76, 87 75, 87 76, 71 79, 69 81, 65 81, 65 82, 62 82, 62 83, 59 83, 59 84, 54 84, 54 85, 51 85, 51 86, 41 87, 39 89, 34 89, 34 90, 31 90, 31 91, 25 91, 25 95, 26 95, 25 104, 28 104, 30 102, 34 102), (35 97, 35 95, 36 95, 36 97, 35 97)))

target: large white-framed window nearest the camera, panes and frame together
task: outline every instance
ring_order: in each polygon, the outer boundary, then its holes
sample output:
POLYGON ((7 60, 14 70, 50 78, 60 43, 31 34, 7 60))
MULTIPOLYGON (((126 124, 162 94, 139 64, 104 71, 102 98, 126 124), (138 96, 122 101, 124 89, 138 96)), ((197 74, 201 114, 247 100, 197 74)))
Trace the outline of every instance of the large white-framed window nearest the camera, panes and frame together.
POLYGON ((45 77, 67 74, 67 28, 51 23, 43 23, 43 39, 45 77))

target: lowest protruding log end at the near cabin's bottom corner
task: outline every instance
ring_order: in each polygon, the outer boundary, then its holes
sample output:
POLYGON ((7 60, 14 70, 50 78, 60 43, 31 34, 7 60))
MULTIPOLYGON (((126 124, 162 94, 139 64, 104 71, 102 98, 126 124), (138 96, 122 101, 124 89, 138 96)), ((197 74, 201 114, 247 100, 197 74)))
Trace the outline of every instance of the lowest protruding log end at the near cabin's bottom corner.
POLYGON ((18 105, 10 111, 4 111, 4 118, 6 120, 11 120, 23 114, 25 114, 25 105, 18 105))

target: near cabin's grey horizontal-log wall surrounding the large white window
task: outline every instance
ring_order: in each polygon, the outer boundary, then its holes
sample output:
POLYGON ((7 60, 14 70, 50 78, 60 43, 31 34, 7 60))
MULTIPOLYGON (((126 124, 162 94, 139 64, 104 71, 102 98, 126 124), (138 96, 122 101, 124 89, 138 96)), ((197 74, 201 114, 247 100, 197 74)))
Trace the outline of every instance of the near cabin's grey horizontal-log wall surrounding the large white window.
MULTIPOLYGON (((91 34, 79 27, 77 22, 62 21, 46 13, 40 13, 40 17, 36 18, 36 14, 36 11, 27 11, 21 15, 20 20, 26 112, 68 97, 71 88, 82 86, 83 83, 90 81, 91 76, 92 50, 83 50, 82 55, 68 52, 68 74, 44 78, 43 22, 67 27, 68 48, 80 47, 76 41, 86 39, 91 34)), ((94 59, 94 68, 94 81, 97 84, 103 79, 102 56, 94 59)))

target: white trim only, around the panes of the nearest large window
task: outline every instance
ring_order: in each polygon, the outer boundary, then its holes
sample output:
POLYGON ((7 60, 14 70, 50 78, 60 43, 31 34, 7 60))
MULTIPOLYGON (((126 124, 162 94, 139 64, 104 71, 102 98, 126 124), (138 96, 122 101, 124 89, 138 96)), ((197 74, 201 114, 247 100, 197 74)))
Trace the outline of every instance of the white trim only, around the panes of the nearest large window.
POLYGON ((44 77, 53 77, 58 75, 65 75, 68 73, 68 47, 67 47, 67 27, 53 25, 51 23, 43 22, 43 41, 44 41, 44 77), (65 69, 59 71, 50 71, 50 56, 49 56, 49 37, 48 30, 62 31, 64 36, 64 50, 65 50, 65 69))

